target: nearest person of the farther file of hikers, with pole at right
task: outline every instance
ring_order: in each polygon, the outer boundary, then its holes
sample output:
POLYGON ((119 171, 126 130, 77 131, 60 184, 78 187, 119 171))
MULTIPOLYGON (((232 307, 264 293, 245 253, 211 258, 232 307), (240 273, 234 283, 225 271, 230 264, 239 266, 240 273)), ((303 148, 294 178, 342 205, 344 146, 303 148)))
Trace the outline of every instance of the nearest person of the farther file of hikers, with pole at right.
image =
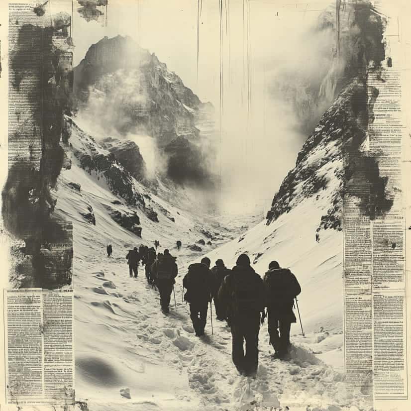
POLYGON ((163 256, 156 260, 152 267, 152 276, 155 276, 155 284, 160 292, 161 311, 163 314, 168 314, 171 293, 178 274, 176 261, 169 250, 165 249, 163 256))

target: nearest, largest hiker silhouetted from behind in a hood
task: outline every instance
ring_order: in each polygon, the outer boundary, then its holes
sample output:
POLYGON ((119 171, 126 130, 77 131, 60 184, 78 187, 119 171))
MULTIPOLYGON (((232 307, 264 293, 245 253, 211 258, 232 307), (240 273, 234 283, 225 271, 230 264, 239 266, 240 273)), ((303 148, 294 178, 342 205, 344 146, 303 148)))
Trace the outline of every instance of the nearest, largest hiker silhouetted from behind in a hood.
POLYGON ((247 254, 240 254, 232 273, 224 278, 218 300, 231 328, 232 361, 238 372, 246 376, 257 373, 258 333, 264 297, 263 280, 251 267, 247 254))

